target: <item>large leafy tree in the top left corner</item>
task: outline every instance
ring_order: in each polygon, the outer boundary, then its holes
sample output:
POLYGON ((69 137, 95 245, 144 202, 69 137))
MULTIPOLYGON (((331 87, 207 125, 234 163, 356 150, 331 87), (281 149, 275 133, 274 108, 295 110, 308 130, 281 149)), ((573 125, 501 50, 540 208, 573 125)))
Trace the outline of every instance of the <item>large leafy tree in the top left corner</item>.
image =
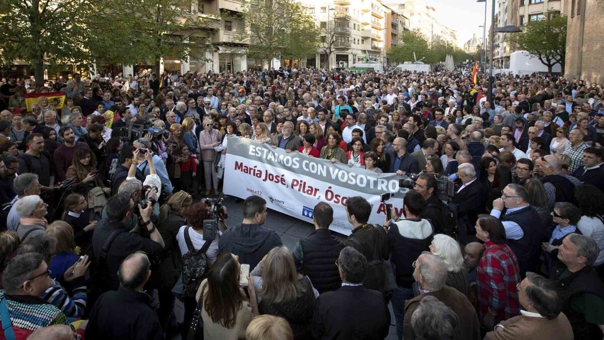
POLYGON ((45 64, 86 64, 92 14, 88 0, 2 0, 0 41, 2 62, 32 64, 36 82, 42 82, 45 64))

